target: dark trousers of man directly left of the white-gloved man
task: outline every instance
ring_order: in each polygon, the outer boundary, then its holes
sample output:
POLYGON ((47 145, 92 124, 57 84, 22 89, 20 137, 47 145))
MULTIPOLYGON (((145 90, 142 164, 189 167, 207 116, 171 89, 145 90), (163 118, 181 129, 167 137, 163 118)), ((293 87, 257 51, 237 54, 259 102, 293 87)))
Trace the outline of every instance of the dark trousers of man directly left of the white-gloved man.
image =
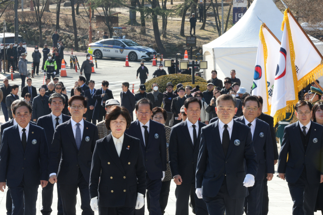
POLYGON ((176 215, 188 215, 188 205, 191 190, 194 189, 194 200, 195 200, 195 214, 196 215, 207 215, 206 204, 201 198, 197 198, 195 193, 195 178, 192 183, 176 185, 175 196, 176 196, 176 215), (193 186, 194 184, 194 186, 193 186))

